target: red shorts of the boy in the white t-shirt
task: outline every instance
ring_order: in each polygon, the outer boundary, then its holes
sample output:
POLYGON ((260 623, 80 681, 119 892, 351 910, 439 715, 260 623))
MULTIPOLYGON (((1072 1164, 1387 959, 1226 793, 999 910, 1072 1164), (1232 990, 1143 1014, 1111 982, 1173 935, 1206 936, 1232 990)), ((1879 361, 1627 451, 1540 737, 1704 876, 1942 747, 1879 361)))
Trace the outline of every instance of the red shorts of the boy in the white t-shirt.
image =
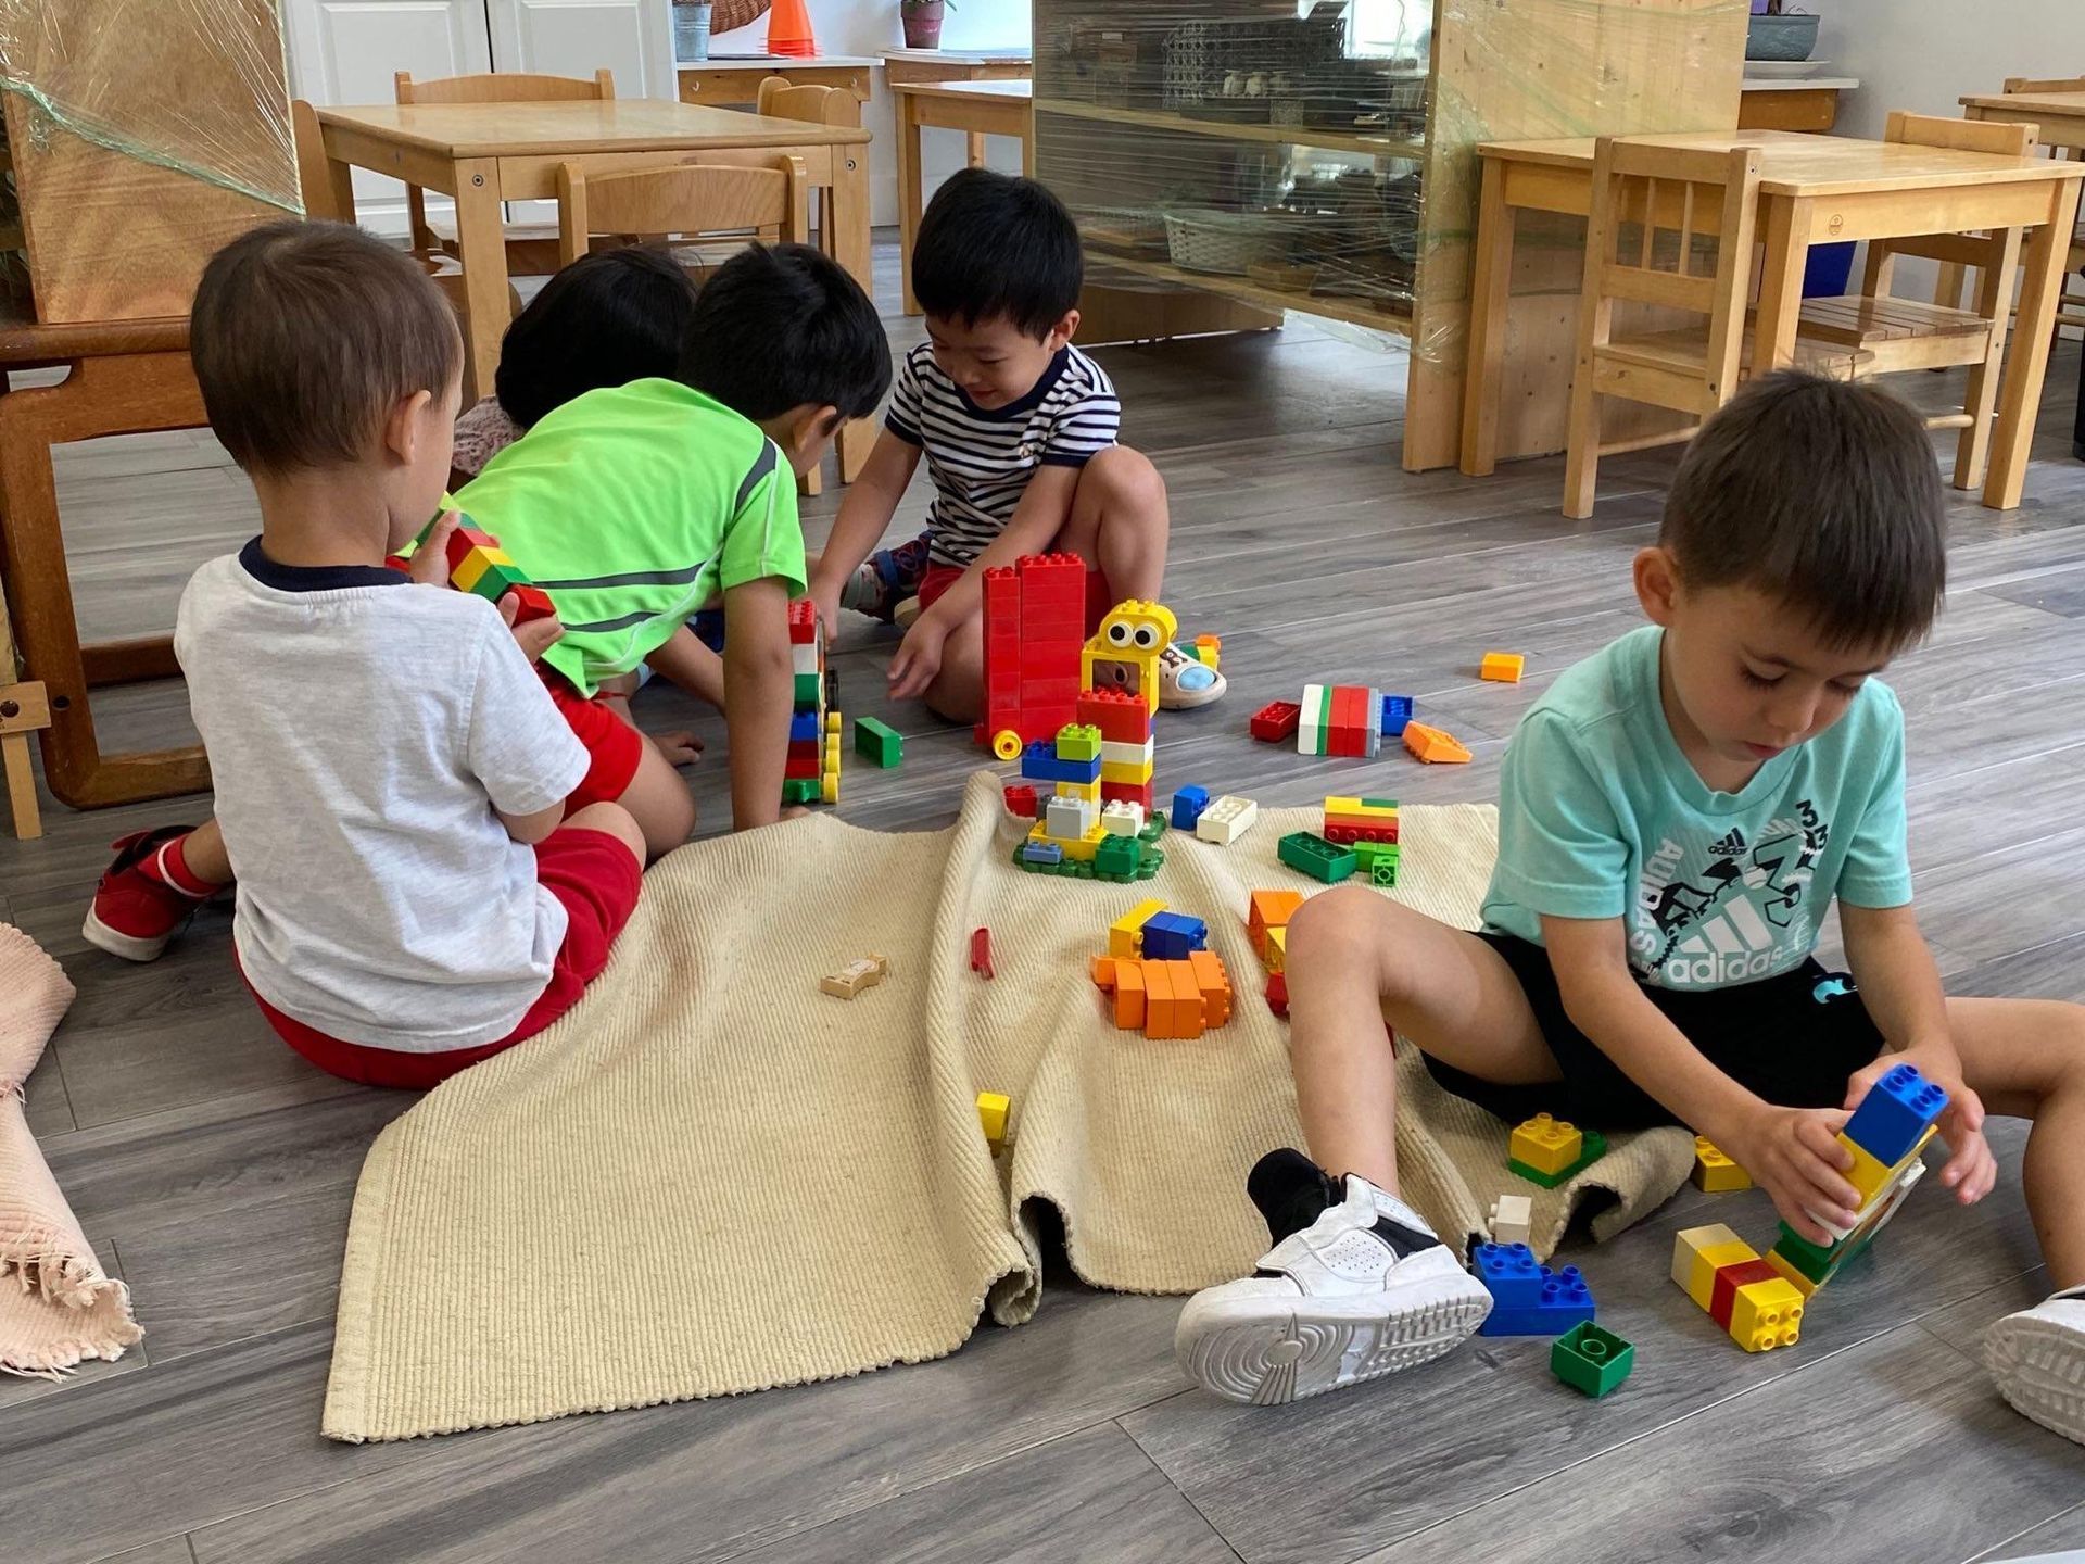
MULTIPOLYGON (((304 1022, 294 1022, 261 995, 254 995, 254 1003, 261 1005, 261 1013, 267 1016, 269 1026, 284 1043, 327 1074, 359 1080, 365 1086, 400 1086, 404 1091, 438 1086, 459 1070, 490 1059, 525 1036, 536 1036, 580 1003, 586 984, 598 978, 609 963, 615 936, 623 932, 630 913, 638 909, 638 893, 644 886, 644 874, 630 857, 630 849, 600 830, 561 830, 548 840, 536 842, 536 878, 550 888, 569 915, 565 943, 557 947, 550 984, 536 995, 536 1003, 528 1007, 515 1030, 498 1043, 442 1053, 371 1049, 361 1043, 342 1043, 304 1026, 304 1022)), ((244 978, 244 974, 240 976, 244 978)), ((252 984, 246 986, 246 993, 252 993, 252 984)))

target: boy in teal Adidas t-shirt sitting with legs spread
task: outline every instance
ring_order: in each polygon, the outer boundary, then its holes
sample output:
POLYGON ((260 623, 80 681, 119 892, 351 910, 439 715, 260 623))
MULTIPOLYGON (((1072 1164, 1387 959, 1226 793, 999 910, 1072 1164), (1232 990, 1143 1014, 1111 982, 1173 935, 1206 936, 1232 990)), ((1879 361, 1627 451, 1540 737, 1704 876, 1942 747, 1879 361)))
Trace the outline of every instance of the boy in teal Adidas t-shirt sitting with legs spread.
POLYGON ((1701 427, 1635 561, 1651 626, 1514 732, 1482 930, 1359 888, 1291 922, 1309 1157, 1253 1170, 1276 1243, 1188 1301, 1188 1372, 1232 1399, 1316 1395, 1489 1312, 1397 1199, 1389 1022, 1510 1122, 1693 1126, 1814 1243, 1860 1205, 1837 1132, 1887 1068, 1947 1089, 1939 1182, 1964 1205, 1997 1176, 1985 1107, 2033 1118, 2058 1291, 2000 1320, 1987 1360, 2020 1412, 2085 1439, 2085 1009, 1947 999, 1912 915, 1904 713, 1876 674, 1939 611, 1943 530, 1924 427, 1881 390, 1772 373, 1701 427), (1835 899, 1851 974, 1812 955, 1835 899))

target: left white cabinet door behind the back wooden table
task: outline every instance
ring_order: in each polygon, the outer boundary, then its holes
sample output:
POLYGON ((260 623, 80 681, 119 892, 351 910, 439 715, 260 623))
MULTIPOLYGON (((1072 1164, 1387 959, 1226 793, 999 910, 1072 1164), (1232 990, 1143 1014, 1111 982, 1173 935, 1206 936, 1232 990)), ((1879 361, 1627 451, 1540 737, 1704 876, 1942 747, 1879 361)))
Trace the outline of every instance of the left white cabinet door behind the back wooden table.
MULTIPOLYGON (((288 0, 286 10, 296 96, 315 104, 390 102, 396 71, 432 81, 492 69, 486 0, 288 0)), ((430 198, 430 211, 446 206, 430 198)), ((354 215, 404 234, 404 186, 357 169, 354 215)))

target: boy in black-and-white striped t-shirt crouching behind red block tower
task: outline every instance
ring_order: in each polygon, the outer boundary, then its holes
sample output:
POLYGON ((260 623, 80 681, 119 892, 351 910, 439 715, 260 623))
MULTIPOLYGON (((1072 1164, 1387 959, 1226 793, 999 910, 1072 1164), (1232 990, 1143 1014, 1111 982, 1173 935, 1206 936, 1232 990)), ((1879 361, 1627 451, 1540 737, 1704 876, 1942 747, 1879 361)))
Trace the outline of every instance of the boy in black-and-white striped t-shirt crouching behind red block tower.
MULTIPOLYGON (((913 244, 913 292, 928 342, 905 355, 876 450, 811 571, 832 626, 842 605, 909 611, 890 692, 959 722, 984 697, 982 573, 1022 555, 1074 553, 1088 569, 1088 628, 1124 598, 1157 598, 1166 578, 1166 482, 1115 442, 1122 405, 1072 346, 1084 282, 1078 225, 1034 179, 963 169, 936 192, 913 244), (928 530, 869 553, 926 457, 928 530), (917 592, 915 603, 901 603, 917 592)), ((1161 663, 1161 705, 1199 707, 1224 678, 1178 646, 1161 663)))

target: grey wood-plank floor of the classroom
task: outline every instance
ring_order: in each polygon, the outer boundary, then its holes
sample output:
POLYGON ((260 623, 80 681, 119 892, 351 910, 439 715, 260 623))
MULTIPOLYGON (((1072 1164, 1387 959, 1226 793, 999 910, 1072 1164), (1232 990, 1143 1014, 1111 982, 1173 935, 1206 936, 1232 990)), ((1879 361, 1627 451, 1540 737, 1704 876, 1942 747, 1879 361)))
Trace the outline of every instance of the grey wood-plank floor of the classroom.
MULTIPOLYGON (((888 246, 882 259, 888 298, 888 246)), ((917 325, 892 334, 909 344, 917 325)), ((2010 515, 1956 507, 1947 613, 1891 674, 1912 732, 1920 909, 1958 991, 2085 999, 2075 355, 2052 367, 2027 503, 2010 515)), ((1626 565, 1651 538, 1670 457, 1608 463, 1595 517, 1574 523, 1557 515, 1557 461, 1482 482, 1399 471, 1397 355, 1293 327, 1103 361, 1126 438, 1172 486, 1168 601, 1188 632, 1224 636, 1232 680, 1226 703, 1163 719, 1161 792, 1193 780, 1272 803, 1328 790, 1491 799, 1518 713, 1637 624, 1626 565), (1528 655, 1522 686, 1478 684, 1493 646, 1528 655), (1328 763, 1249 742, 1247 715, 1305 678, 1414 690, 1476 763, 1328 763)), ((1945 386, 1916 377, 1910 390, 1945 386)), ((77 448, 60 471, 94 634, 165 628, 188 571, 254 530, 244 482, 204 436, 77 448)), ((922 498, 915 486, 894 536, 917 526, 922 498)), ((834 505, 832 492, 809 505, 813 538, 834 505)), ((842 703, 901 728, 907 761, 849 769, 842 813, 945 824, 980 751, 917 709, 888 709, 890 632, 859 624, 838 659, 842 703)), ((108 711, 119 742, 186 728, 177 686, 125 692, 108 711)), ((640 699, 655 726, 684 713, 678 697, 640 699)), ((721 744, 715 719, 696 728, 721 744)), ((723 820, 721 755, 694 786, 707 824, 723 820)), ((354 1176, 413 1099, 321 1076, 275 1043, 234 978, 225 913, 148 968, 81 945, 108 838, 204 807, 54 809, 42 842, 0 838, 0 918, 79 984, 29 1082, 29 1122, 148 1330, 123 1362, 65 1385, 0 1385, 10 1564, 1922 1564, 2085 1545, 2085 1449, 2014 1416, 1977 1358, 1981 1330, 2043 1291, 2012 1122, 1993 1137, 2000 1191, 1968 1216, 1937 1191, 1916 1199, 1793 1351, 1739 1353, 1666 1280, 1676 1226, 1770 1232, 1758 1193, 1687 1191, 1608 1247, 1580 1243, 1601 1322, 1637 1343, 1635 1376, 1599 1403, 1549 1376, 1545 1341, 1497 1339, 1370 1389, 1234 1408, 1174 1366, 1178 1299, 1107 1297, 1053 1274, 1034 1324, 982 1328, 938 1364, 329 1445, 319 1399, 354 1176)), ((792 1201, 778 1191, 778 1247, 792 1201)))

